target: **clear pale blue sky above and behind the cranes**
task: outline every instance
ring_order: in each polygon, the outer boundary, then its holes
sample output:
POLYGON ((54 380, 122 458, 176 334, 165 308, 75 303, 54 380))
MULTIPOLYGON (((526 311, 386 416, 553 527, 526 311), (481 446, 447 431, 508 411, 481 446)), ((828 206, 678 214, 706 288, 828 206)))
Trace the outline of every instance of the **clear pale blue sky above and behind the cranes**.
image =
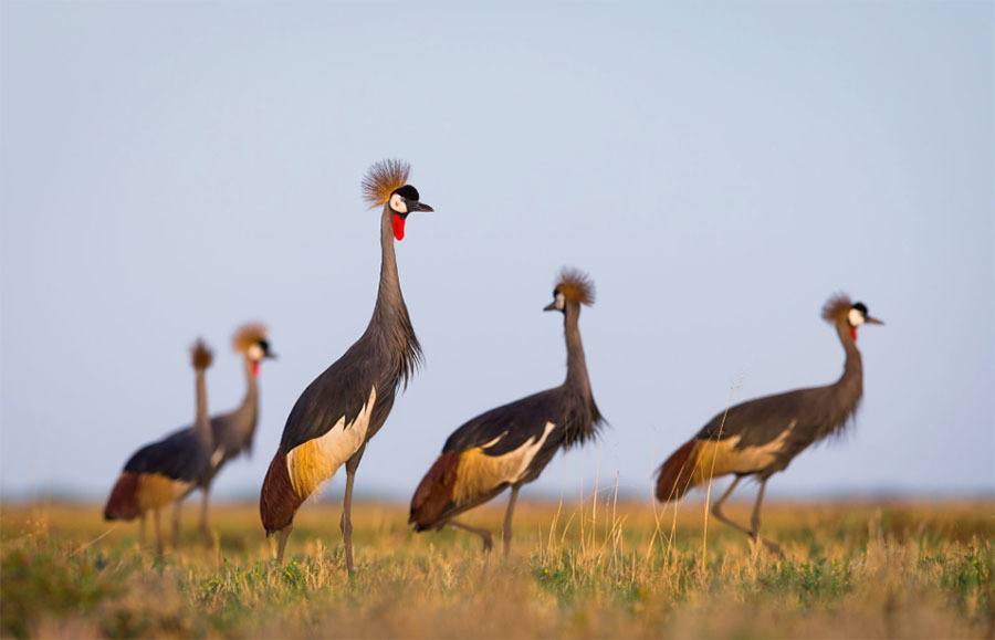
MULTIPOLYGON (((772 491, 995 490, 991 3, 2 6, 4 495, 103 495, 192 416, 186 348, 272 327, 258 491, 286 415, 373 307, 366 168, 409 159, 437 213, 399 248, 427 366, 360 491, 410 495, 446 437, 556 385, 541 312, 590 272, 582 329, 611 428, 530 492, 653 469, 734 400, 834 380, 834 291, 860 339, 842 442, 772 491)), ((336 479, 333 491, 341 491, 336 479)))

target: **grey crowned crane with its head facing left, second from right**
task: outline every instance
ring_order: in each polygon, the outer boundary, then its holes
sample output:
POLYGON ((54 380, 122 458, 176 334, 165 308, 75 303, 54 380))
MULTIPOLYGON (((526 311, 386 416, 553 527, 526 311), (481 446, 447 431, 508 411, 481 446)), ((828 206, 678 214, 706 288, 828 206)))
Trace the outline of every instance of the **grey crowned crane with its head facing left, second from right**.
POLYGON ((594 283, 564 270, 544 311, 563 314, 567 374, 563 385, 491 409, 473 418, 446 441, 411 499, 415 531, 447 525, 476 534, 484 550, 491 533, 454 520, 511 487, 504 516, 503 549, 511 548, 512 517, 519 491, 536 480, 559 450, 595 438, 604 424, 595 403, 580 343, 580 306, 594 304, 594 283))

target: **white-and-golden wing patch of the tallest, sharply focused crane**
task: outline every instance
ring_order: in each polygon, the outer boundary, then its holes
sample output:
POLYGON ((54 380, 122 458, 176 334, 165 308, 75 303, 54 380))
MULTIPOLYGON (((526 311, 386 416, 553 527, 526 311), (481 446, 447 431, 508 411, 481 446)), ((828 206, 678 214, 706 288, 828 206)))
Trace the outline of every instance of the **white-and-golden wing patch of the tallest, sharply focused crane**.
POLYGON ((350 422, 342 416, 324 434, 307 440, 286 454, 286 470, 291 485, 301 500, 310 496, 329 480, 366 441, 369 419, 377 401, 377 388, 350 422))

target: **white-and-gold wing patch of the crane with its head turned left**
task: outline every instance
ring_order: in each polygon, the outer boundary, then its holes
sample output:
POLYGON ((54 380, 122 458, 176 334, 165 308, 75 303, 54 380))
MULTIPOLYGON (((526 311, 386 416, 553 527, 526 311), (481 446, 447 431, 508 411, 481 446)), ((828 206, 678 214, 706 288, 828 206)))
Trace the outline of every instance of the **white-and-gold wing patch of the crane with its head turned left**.
POLYGON ((465 504, 501 484, 514 484, 522 480, 555 427, 553 422, 546 422, 542 434, 532 433, 514 449, 498 455, 492 452, 510 437, 507 431, 481 447, 463 451, 457 463, 452 502, 465 504))

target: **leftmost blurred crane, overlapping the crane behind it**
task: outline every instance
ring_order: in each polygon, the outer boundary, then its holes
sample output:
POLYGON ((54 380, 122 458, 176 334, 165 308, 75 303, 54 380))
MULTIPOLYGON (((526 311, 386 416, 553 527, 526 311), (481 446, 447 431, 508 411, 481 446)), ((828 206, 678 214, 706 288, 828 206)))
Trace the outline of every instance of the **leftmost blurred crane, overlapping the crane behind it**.
POLYGON ((202 340, 197 340, 190 356, 197 397, 193 428, 178 431, 136 451, 125 463, 104 507, 104 518, 108 521, 140 517, 143 537, 145 514, 151 511, 156 548, 160 554, 164 545, 159 511, 186 497, 210 471, 213 437, 208 417, 205 371, 211 366, 213 355, 202 340))

